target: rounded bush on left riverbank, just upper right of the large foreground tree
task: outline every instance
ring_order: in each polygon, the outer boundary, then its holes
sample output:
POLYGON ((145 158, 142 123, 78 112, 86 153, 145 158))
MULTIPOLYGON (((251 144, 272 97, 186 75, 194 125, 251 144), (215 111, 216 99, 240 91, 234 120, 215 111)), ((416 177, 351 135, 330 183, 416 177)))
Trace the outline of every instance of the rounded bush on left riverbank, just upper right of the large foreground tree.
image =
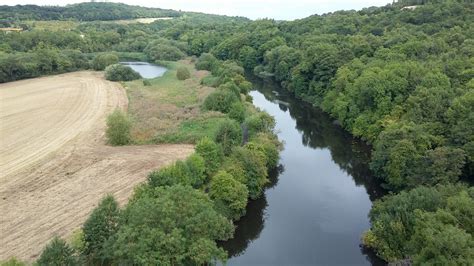
POLYGON ((220 171, 212 177, 209 196, 226 217, 237 220, 245 214, 249 191, 230 174, 220 171))

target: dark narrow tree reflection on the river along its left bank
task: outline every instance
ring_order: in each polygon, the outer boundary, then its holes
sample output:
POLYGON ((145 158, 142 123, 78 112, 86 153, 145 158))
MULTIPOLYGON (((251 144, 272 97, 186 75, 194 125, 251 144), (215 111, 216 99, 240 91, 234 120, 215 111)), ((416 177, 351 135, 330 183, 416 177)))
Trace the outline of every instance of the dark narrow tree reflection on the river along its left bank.
MULTIPOLYGON (((269 183, 266 188, 272 188, 278 183, 278 176, 283 173, 283 166, 280 165, 269 172, 269 183)), ((249 201, 247 212, 238 222, 235 223, 236 229, 234 238, 228 241, 219 242, 218 245, 224 248, 229 257, 236 257, 242 254, 248 245, 260 236, 265 223, 265 209, 268 203, 265 194, 257 200, 249 201)))

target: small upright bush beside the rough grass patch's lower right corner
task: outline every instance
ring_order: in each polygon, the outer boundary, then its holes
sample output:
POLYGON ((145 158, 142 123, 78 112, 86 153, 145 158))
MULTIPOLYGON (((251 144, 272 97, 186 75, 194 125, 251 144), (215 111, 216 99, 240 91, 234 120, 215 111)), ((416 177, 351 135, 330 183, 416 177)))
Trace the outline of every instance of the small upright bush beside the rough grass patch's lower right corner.
POLYGON ((242 130, 239 123, 231 119, 220 122, 214 140, 221 144, 224 154, 229 155, 233 146, 242 143, 242 130))

